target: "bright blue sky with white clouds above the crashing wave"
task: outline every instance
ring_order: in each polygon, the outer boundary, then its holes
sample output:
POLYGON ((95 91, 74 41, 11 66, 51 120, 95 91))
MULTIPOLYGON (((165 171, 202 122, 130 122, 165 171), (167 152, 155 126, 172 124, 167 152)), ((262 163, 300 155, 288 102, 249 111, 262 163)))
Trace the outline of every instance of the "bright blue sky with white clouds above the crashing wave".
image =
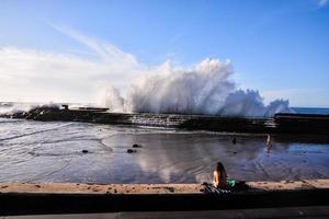
POLYGON ((102 81, 117 80, 124 88, 135 65, 149 69, 170 60, 190 67, 218 58, 231 61, 238 88, 259 90, 265 102, 329 106, 326 0, 2 0, 0 50, 0 101, 52 95, 54 101, 92 102, 102 81), (112 70, 98 66, 100 45, 117 51, 110 49, 104 58, 115 60, 112 70), (91 78, 101 80, 86 85, 91 78))

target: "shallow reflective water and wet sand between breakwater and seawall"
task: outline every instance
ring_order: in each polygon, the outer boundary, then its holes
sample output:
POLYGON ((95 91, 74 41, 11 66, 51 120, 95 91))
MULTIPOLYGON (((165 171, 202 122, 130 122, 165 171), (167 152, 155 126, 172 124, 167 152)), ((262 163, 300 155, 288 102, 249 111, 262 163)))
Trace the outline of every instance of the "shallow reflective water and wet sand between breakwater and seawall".
POLYGON ((201 183, 222 161, 230 177, 329 177, 329 142, 318 137, 0 118, 0 182, 201 183), (141 145, 127 153, 133 143, 141 145), (88 153, 82 153, 88 150, 88 153))

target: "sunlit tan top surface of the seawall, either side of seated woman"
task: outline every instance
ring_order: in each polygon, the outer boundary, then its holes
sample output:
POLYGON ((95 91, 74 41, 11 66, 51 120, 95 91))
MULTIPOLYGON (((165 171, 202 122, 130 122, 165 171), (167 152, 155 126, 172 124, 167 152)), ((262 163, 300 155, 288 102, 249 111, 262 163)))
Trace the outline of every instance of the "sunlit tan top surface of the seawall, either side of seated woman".
MULTIPOLYGON (((262 191, 290 191, 329 188, 328 180, 280 182, 248 182, 251 188, 262 191)), ((201 184, 80 184, 80 183, 0 183, 0 193, 41 194, 200 194, 201 184)))

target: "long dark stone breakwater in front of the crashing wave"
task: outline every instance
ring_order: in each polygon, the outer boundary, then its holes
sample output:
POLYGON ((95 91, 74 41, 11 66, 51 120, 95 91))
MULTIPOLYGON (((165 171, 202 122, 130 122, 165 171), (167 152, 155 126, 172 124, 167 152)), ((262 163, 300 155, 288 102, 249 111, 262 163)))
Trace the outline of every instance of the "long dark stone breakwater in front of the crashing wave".
POLYGON ((82 122, 110 125, 154 126, 190 130, 231 132, 329 134, 328 115, 275 114, 273 118, 220 117, 206 115, 109 113, 106 108, 37 107, 29 112, 1 115, 33 120, 82 122))

